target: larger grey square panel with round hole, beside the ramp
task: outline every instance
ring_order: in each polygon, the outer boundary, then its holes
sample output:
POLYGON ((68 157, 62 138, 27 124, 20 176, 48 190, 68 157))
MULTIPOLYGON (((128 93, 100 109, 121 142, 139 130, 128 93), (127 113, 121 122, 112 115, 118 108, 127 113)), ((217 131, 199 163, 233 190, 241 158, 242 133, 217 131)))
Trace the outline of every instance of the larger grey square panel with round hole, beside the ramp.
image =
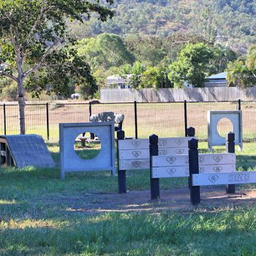
POLYGON ((116 175, 116 151, 114 123, 59 124, 61 150, 61 178, 66 172, 111 170, 116 175), (93 159, 81 159, 75 153, 75 138, 83 132, 91 132, 99 137, 101 150, 93 159))

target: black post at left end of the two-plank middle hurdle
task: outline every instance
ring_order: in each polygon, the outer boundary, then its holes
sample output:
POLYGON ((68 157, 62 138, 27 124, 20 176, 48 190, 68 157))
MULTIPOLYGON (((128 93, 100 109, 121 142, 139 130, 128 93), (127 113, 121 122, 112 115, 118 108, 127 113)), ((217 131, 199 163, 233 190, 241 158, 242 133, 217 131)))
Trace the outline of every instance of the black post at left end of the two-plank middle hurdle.
POLYGON ((151 199, 159 199, 159 178, 152 178, 152 156, 158 156, 158 136, 149 136, 151 199))

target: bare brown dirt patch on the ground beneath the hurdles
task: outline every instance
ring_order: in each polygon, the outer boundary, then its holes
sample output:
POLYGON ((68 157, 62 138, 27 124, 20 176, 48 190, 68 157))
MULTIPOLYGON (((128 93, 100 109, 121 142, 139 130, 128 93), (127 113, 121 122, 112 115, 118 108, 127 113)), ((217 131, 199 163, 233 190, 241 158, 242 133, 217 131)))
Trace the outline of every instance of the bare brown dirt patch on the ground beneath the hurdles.
MULTIPOLYGON (((107 212, 159 212, 194 211, 189 199, 189 189, 162 189, 160 200, 150 200, 150 191, 131 191, 127 194, 87 194, 79 197, 61 197, 70 212, 102 214, 107 212)), ((217 208, 253 206, 256 191, 236 192, 227 195, 225 189, 201 189, 201 204, 198 211, 215 211, 217 208)))

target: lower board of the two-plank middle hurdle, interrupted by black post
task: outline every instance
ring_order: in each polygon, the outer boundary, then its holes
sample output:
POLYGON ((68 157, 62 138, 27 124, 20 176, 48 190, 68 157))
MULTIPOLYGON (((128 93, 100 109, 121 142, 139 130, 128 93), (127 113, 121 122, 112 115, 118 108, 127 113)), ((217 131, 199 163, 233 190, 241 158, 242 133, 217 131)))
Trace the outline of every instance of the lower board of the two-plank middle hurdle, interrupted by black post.
MULTIPOLYGON (((203 165, 199 166, 199 173, 233 173, 236 165, 203 165)), ((152 178, 189 177, 189 165, 171 167, 153 167, 152 178)))

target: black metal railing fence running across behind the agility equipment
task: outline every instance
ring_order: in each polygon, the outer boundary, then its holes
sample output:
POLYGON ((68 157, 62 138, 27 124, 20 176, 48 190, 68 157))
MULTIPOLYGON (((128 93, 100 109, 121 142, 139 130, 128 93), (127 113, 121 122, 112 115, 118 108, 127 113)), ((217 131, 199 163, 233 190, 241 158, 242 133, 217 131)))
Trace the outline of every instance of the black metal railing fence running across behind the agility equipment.
MULTIPOLYGON (((18 105, 1 104, 0 133, 19 133, 18 105)), ((112 111, 124 114, 123 129, 127 136, 148 138, 186 135, 195 127, 199 140, 208 138, 208 110, 243 110, 244 140, 256 138, 256 102, 127 102, 127 103, 41 103, 26 105, 26 133, 42 135, 46 140, 59 140, 59 123, 89 122, 95 113, 112 111)), ((220 135, 232 130, 228 120, 219 121, 220 135)))

